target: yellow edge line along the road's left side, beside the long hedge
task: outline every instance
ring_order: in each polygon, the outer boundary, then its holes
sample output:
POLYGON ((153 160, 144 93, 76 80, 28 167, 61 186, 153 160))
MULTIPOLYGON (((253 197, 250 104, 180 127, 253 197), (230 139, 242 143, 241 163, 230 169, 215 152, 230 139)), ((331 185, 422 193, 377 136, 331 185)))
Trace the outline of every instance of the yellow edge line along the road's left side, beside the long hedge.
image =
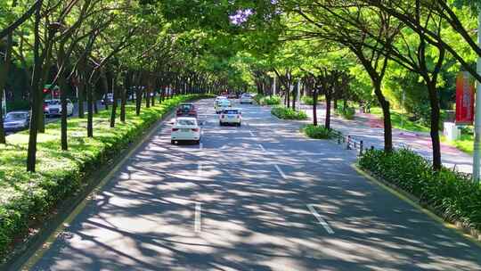
POLYGON ((132 148, 129 152, 126 153, 124 158, 122 160, 118 161, 118 163, 110 169, 110 172, 102 178, 102 181, 99 183, 99 185, 95 186, 95 188, 92 190, 91 193, 88 193, 85 197, 84 200, 82 200, 80 203, 78 203, 77 207, 73 209, 72 212, 70 212, 69 216, 61 222, 61 225, 58 226, 52 234, 48 236, 46 241, 42 244, 42 246, 32 255, 29 257, 29 259, 20 267, 20 270, 30 270, 32 267, 34 267, 37 262, 42 259, 42 257, 45 255, 46 250, 49 250, 50 247, 52 246, 53 242, 57 240, 59 235, 64 232, 65 228, 69 226, 69 224, 77 218, 78 214, 82 212, 85 208, 86 205, 89 203, 89 201, 92 201, 94 195, 98 193, 99 191, 102 190, 102 188, 109 183, 110 179, 113 177, 115 173, 118 172, 118 169, 122 167, 125 163, 126 160, 128 160, 134 152, 137 152, 138 149, 145 143, 147 140, 151 139, 151 136, 159 130, 159 127, 161 127, 164 122, 171 116, 172 114, 169 113, 165 119, 161 119, 159 123, 151 127, 151 131, 143 136, 143 139, 139 141, 137 144, 135 144, 135 147, 132 148))

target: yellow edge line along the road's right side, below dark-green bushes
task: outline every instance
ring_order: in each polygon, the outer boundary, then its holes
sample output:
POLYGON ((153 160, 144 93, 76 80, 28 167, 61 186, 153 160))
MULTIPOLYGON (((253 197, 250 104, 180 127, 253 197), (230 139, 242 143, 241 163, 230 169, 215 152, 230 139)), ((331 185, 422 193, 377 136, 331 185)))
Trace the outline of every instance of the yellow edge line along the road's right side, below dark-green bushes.
MULTIPOLYGON (((459 226, 455 226, 452 223, 446 222, 443 218, 440 218, 435 213, 433 213, 431 210, 420 206, 420 204, 418 202, 412 201, 412 199, 410 199, 409 197, 407 197, 403 193, 401 193, 399 191, 396 191, 394 188, 391 188, 388 185, 383 184, 377 178, 372 177, 367 172, 365 172, 363 169, 359 168, 356 163, 351 164, 351 167, 354 168, 355 171, 357 171, 357 173, 359 173, 360 175, 365 177, 368 181, 370 181, 374 185, 378 185, 379 187, 383 188, 387 192, 394 194, 397 198, 399 198, 402 201, 407 202, 408 204, 410 204, 415 209, 419 209, 421 212, 423 212, 429 218, 435 220, 437 223, 439 223, 442 226, 452 230, 452 232, 461 235, 462 237, 468 239, 468 241, 475 243, 478 247, 481 248, 481 242, 479 240, 477 240, 477 238, 475 236, 473 236, 471 234, 466 234, 465 232, 463 232, 459 226)), ((400 188, 398 188, 398 189, 400 189, 400 188)))

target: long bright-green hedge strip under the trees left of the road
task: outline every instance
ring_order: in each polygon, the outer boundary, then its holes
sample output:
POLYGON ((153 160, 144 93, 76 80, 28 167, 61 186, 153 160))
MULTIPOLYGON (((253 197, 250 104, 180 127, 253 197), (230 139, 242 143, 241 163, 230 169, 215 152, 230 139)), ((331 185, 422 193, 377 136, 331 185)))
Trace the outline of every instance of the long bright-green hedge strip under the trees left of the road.
POLYGON ((37 173, 25 171, 28 131, 8 137, 12 144, 0 146, 0 263, 11 252, 13 241, 27 236, 29 227, 48 216, 61 201, 86 185, 94 173, 134 142, 179 103, 207 97, 175 96, 135 116, 135 105, 126 107, 126 123, 109 127, 110 112, 94 118, 94 138, 86 137, 86 119, 69 119, 69 152, 60 150, 60 124, 46 126, 39 136, 37 173))

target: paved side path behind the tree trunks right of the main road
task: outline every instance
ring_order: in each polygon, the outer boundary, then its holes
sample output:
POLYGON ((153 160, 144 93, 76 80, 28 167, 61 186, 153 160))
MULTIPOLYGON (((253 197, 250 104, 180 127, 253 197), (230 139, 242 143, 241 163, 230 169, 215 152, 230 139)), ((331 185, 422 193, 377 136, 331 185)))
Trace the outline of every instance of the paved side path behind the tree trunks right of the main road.
MULTIPOLYGON (((301 109, 306 111, 310 120, 313 119, 312 106, 303 104, 301 109)), ((324 121, 324 117, 325 105, 319 104, 317 118, 321 124, 324 121)), ((363 140, 366 147, 383 148, 384 146, 383 121, 372 114, 356 113, 353 120, 342 119, 333 114, 330 125, 333 129, 346 136, 353 136, 357 140, 363 140)), ((393 144, 395 148, 407 147, 414 152, 418 152, 426 159, 432 160, 432 144, 428 133, 409 132, 393 128, 393 144)), ((444 167, 456 168, 456 170, 464 173, 472 173, 473 158, 471 155, 443 143, 441 144, 441 155, 444 167)))

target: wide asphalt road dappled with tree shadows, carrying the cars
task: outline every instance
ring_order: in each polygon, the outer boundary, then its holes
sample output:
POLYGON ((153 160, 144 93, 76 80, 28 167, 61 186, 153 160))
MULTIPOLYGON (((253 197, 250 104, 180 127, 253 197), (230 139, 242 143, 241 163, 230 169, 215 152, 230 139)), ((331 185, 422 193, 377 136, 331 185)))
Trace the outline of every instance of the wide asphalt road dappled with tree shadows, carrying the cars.
MULTIPOLYGON (((355 152, 242 105, 202 144, 159 126, 32 270, 481 270, 481 249, 360 176, 355 152)), ((43 254, 42 254, 43 253, 43 254)))

